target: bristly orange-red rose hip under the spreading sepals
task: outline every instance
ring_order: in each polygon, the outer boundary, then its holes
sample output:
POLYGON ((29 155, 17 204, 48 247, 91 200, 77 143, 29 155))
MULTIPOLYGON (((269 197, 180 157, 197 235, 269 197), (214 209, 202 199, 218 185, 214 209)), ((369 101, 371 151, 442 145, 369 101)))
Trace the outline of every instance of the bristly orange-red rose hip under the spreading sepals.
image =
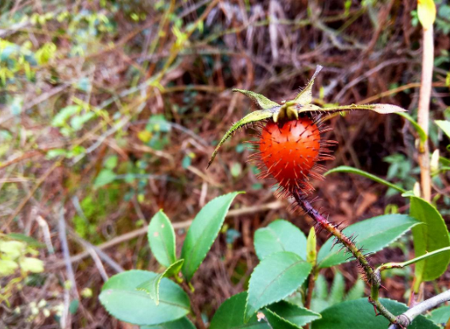
POLYGON ((320 152, 320 130, 308 117, 275 123, 267 122, 259 141, 259 157, 267 167, 265 175, 272 175, 285 190, 297 187, 312 189, 308 174, 320 176, 313 170, 323 160, 320 152))

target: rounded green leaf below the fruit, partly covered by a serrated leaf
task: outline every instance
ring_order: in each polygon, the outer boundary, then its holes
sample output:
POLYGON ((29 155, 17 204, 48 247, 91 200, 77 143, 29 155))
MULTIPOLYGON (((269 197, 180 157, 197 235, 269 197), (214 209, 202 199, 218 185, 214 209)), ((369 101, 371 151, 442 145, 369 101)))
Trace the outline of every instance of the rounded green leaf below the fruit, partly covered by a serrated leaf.
POLYGON ((279 251, 291 251, 306 259, 306 237, 297 226, 283 219, 257 229, 254 244, 259 260, 279 251))

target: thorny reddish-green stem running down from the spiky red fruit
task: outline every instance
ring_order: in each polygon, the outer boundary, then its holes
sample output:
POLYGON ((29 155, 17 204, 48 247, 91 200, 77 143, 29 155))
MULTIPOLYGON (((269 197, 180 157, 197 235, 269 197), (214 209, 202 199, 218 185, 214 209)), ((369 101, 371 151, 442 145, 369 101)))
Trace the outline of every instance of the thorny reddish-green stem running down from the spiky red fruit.
POLYGON ((342 231, 339 230, 337 225, 329 222, 327 218, 323 217, 322 214, 315 210, 314 207, 306 200, 306 197, 301 193, 301 191, 294 190, 292 194, 300 207, 312 219, 314 219, 321 228, 331 233, 337 239, 337 241, 342 243, 348 250, 348 252, 350 252, 356 258, 357 262, 366 275, 367 283, 371 287, 369 302, 378 310, 381 315, 383 315, 391 323, 396 323, 397 317, 389 312, 389 310, 387 310, 378 300, 378 291, 381 285, 380 274, 379 272, 376 272, 372 266, 370 266, 361 249, 358 249, 358 247, 356 247, 356 245, 353 243, 352 239, 343 234, 342 231))

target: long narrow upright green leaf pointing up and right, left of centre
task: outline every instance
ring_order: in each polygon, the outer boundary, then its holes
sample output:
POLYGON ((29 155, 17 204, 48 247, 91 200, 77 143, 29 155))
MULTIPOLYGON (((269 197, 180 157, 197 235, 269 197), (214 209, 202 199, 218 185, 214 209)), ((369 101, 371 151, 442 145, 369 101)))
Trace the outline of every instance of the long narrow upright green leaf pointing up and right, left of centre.
POLYGON ((180 257, 184 259, 181 271, 187 281, 192 279, 205 259, 219 234, 231 202, 240 193, 242 192, 228 193, 212 199, 195 216, 184 239, 180 257))

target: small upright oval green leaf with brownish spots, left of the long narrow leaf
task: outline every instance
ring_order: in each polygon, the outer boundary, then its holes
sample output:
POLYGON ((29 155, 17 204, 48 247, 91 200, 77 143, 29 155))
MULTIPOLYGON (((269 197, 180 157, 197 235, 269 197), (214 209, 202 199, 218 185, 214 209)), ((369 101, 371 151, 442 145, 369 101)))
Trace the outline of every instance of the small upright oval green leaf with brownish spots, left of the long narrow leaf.
POLYGON ((169 267, 175 263, 175 231, 162 210, 151 218, 147 231, 151 252, 159 264, 169 267))

